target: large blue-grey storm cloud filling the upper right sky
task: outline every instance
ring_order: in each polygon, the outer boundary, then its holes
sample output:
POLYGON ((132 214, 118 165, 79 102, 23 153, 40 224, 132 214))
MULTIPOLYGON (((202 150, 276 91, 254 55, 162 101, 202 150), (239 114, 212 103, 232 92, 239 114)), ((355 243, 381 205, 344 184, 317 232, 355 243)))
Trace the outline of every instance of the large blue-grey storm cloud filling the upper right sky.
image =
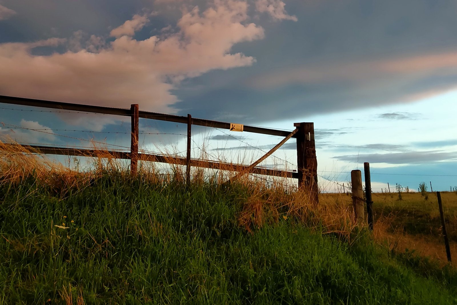
POLYGON ((287 5, 298 22, 263 25, 265 39, 234 46, 233 52, 255 56, 253 67, 190 80, 176 91, 182 101, 176 107, 207 118, 228 112, 244 121, 302 120, 457 87, 455 1, 287 5))

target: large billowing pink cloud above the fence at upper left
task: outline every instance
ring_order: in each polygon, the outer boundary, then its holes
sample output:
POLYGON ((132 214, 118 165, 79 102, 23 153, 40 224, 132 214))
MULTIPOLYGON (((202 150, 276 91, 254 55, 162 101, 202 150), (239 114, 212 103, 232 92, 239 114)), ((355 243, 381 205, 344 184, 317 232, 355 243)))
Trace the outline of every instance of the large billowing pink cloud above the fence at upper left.
POLYGON ((107 45, 91 36, 88 43, 73 41, 73 51, 33 55, 37 46, 68 48, 69 40, 2 43, 0 94, 124 108, 138 103, 142 110, 174 113, 178 99, 170 91, 181 80, 255 62, 230 52, 236 43, 264 37, 263 28, 248 19, 246 2, 216 0, 204 11, 185 11, 177 32, 165 37, 134 39, 147 22, 135 15, 112 31, 116 38, 107 45))

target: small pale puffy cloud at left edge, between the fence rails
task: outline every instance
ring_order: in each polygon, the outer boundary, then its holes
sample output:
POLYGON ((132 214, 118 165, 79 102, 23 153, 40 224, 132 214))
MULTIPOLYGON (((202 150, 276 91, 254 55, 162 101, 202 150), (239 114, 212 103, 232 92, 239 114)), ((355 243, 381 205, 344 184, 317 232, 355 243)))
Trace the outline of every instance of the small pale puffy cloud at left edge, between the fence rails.
POLYGON ((54 141, 56 136, 51 128, 44 126, 35 121, 27 121, 22 119, 20 126, 10 126, 4 124, 0 128, 0 140, 15 140, 18 143, 37 143, 43 141, 54 141), (34 131, 39 130, 39 131, 34 131))

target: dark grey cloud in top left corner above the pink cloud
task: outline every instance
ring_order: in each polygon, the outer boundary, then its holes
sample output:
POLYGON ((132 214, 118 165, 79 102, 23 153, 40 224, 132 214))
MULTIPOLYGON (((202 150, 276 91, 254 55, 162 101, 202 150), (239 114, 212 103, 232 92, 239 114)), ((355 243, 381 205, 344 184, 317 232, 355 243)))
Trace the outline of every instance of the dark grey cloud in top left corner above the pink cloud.
POLYGON ((76 31, 101 35, 145 7, 141 0, 2 0, 2 4, 16 15, 5 27, 0 24, 0 43, 68 38, 76 31))

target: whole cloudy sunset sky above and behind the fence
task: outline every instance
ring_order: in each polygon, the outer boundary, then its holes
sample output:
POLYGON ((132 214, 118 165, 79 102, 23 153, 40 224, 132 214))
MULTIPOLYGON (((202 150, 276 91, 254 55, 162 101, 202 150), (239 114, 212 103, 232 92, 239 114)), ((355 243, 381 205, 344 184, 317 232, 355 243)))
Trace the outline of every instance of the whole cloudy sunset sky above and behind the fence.
MULTIPOLYGON (((446 191, 457 187, 456 15, 455 0, 0 0, 0 95, 314 122, 324 190, 370 162, 373 191, 446 191)), ((0 107, 5 139, 129 145, 125 118, 0 107)), ((140 120, 140 147, 181 153, 185 128, 140 120)), ((248 163, 281 140, 193 134, 193 155, 248 163)), ((294 145, 262 165, 293 170, 294 145)))

